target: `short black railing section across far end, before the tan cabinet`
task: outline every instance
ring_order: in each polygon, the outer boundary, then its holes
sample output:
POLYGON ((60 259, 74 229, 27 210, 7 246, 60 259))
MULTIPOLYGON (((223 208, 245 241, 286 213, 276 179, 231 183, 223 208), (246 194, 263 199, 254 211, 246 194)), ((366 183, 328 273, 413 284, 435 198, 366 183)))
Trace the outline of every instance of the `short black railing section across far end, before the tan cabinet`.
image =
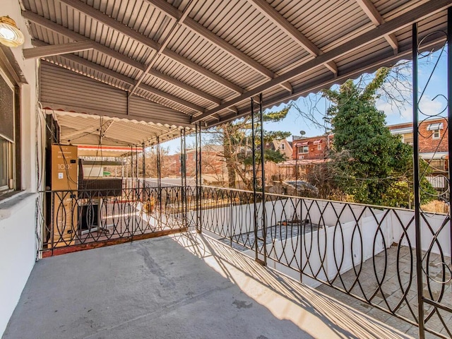
POLYGON ((55 249, 145 237, 187 227, 190 188, 47 191, 47 213, 40 213, 44 256, 55 249))

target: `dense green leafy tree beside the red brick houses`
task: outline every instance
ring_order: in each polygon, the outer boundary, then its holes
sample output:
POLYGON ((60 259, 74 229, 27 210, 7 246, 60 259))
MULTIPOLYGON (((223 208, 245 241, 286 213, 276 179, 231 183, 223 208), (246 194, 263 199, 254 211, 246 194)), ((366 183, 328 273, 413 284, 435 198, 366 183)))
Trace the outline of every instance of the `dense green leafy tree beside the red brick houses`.
MULTIPOLYGON (((334 104, 328 109, 334 133, 331 165, 335 184, 352 201, 406 206, 412 196, 412 148, 391 135, 386 115, 375 106, 389 71, 379 69, 364 89, 348 80, 339 90, 323 90, 334 104)), ((422 201, 431 200, 434 189, 427 179, 421 184, 422 201)))

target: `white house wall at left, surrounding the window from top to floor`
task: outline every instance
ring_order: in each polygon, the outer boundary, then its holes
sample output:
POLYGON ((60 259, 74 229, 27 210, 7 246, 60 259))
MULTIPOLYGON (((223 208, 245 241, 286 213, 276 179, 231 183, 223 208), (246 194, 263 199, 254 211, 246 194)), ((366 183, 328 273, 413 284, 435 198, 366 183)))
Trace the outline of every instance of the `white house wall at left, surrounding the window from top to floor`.
MULTIPOLYGON (((23 192, 8 201, 0 201, 0 337, 15 309, 20 293, 35 264, 35 203, 37 194, 36 61, 24 60, 22 49, 32 47, 25 20, 20 16, 18 0, 1 0, 0 16, 10 16, 25 35, 25 44, 11 48, 28 84, 21 87, 21 187, 23 192)), ((42 125, 39 129, 42 129, 42 125)), ((37 143, 39 141, 39 143, 37 143)), ((42 154, 42 153, 40 153, 42 154)))

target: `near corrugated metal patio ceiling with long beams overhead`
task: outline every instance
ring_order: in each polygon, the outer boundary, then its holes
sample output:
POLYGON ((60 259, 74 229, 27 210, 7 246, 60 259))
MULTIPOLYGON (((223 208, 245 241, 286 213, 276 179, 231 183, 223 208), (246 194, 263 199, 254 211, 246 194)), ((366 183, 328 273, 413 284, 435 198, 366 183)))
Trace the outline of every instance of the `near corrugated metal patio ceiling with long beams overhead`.
MULTIPOLYGON (((43 107, 193 127, 410 59, 450 0, 22 0, 43 107)), ((432 35, 434 48, 444 37, 432 35)), ((165 129, 161 133, 166 133, 165 129)))

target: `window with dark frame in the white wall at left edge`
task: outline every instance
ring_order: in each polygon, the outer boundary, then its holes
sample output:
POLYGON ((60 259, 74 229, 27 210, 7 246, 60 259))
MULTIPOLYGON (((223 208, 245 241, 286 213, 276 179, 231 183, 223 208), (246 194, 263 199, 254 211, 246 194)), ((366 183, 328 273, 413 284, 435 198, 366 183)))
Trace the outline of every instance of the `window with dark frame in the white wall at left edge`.
POLYGON ((0 194, 16 189, 14 86, 0 69, 0 194))

